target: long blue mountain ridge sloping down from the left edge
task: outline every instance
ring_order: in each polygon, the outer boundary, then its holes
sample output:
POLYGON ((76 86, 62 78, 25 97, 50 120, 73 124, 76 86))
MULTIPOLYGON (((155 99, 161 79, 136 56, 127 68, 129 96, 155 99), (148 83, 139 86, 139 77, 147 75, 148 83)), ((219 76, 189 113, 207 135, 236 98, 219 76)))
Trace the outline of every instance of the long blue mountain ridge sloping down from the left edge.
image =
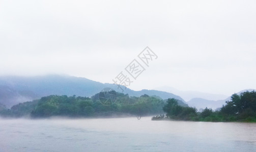
MULTIPOLYGON (((68 75, 45 75, 37 77, 2 76, 0 77, 0 103, 9 108, 17 103, 39 99, 48 95, 91 97, 104 88, 112 88, 121 92, 115 84, 103 84, 86 78, 68 75)), ((126 88, 123 93, 137 97, 144 94, 150 96, 156 95, 162 99, 176 98, 185 102, 175 94, 157 90, 134 91, 126 88)))

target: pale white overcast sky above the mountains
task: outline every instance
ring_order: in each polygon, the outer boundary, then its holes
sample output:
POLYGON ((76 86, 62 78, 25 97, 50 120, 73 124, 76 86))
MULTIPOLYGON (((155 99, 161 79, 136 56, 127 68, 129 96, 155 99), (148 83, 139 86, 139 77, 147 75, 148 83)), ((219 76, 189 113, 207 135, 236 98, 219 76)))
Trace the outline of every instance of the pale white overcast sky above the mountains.
POLYGON ((0 1, 0 75, 103 83, 149 46, 131 83, 231 95, 256 88, 256 1, 0 1))

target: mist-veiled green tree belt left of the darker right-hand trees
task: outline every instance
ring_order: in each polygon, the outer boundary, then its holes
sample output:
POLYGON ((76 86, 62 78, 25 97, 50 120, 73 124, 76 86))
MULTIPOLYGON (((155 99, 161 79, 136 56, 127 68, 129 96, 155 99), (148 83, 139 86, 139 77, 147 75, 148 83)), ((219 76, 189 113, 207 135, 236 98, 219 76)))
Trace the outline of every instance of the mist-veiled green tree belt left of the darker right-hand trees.
POLYGON ((64 117, 97 117, 134 115, 146 116, 163 113, 164 101, 161 98, 141 95, 130 97, 128 94, 117 93, 117 99, 110 105, 102 104, 96 94, 92 98, 76 96, 51 95, 40 100, 14 105, 11 109, 0 106, 3 117, 47 118, 64 117))

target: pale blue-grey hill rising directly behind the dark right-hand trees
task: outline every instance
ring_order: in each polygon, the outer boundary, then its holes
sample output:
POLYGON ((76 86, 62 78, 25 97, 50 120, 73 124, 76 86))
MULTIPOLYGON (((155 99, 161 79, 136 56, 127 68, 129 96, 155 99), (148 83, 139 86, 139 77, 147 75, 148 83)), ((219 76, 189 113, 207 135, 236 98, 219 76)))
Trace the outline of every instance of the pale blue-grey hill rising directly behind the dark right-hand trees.
MULTIPOLYGON (((237 94, 241 94, 246 91, 253 91, 254 89, 246 89, 238 92, 237 94)), ((189 101, 187 101, 188 106, 196 107, 197 109, 203 108, 205 109, 206 107, 212 108, 213 110, 222 107, 222 105, 225 105, 225 101, 230 101, 231 96, 223 99, 223 100, 207 100, 203 98, 193 98, 189 101)))

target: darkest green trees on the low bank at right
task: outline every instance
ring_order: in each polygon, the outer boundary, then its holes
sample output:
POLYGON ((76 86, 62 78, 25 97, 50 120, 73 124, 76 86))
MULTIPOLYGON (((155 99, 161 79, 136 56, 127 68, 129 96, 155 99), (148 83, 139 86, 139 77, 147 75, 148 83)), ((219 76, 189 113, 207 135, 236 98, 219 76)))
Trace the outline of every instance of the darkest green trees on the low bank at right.
POLYGON ((163 107, 165 116, 156 116, 152 120, 173 119, 188 121, 207 121, 207 122, 256 122, 256 92, 244 92, 240 95, 233 94, 231 101, 219 111, 205 108, 202 112, 197 112, 194 107, 182 107, 178 105, 176 99, 168 99, 163 107))

